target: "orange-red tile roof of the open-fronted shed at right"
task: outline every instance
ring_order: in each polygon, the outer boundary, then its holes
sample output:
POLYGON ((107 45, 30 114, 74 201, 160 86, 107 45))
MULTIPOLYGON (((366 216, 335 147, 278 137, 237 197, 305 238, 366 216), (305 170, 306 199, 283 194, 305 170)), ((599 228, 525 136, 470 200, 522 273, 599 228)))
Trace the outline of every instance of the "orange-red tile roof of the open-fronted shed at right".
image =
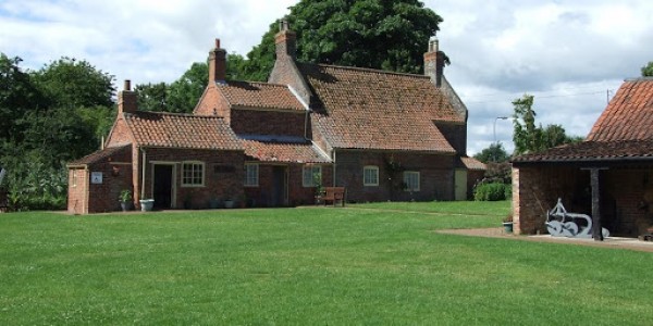
POLYGON ((586 141, 513 159, 513 163, 653 160, 653 78, 626 80, 586 141))

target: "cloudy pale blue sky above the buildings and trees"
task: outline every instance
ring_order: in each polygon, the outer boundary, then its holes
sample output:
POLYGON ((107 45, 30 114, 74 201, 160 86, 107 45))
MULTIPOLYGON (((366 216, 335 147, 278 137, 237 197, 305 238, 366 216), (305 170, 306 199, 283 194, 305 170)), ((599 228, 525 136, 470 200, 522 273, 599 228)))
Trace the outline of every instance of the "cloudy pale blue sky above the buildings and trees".
MULTIPOLYGON (((134 84, 173 82, 214 38, 246 54, 296 0, 0 0, 0 51, 39 68, 66 55, 134 84)), ((469 109, 468 151, 513 150, 512 100, 586 136, 626 78, 653 61, 650 0, 423 1, 444 18, 445 75, 469 109)))

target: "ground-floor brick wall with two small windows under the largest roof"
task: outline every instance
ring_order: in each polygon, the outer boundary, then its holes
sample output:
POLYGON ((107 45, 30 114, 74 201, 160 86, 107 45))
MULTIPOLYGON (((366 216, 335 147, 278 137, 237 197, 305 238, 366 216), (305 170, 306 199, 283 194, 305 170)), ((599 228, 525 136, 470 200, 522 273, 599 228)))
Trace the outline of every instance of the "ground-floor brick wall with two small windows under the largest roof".
POLYGON ((454 199, 454 156, 419 153, 383 153, 372 151, 336 151, 336 185, 347 188, 347 200, 367 201, 428 201, 454 199), (420 173, 420 191, 402 189, 402 172, 393 173, 386 162, 392 160, 406 171, 420 173), (379 186, 364 186, 366 165, 379 167, 379 186))

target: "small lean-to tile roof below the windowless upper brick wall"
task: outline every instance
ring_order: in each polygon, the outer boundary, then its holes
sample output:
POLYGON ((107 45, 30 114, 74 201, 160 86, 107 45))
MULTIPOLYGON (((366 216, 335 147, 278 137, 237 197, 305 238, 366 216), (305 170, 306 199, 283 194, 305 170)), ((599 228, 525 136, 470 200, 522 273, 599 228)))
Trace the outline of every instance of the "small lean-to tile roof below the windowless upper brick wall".
POLYGON ((330 163, 331 160, 310 142, 280 143, 244 140, 245 155, 262 162, 330 163))

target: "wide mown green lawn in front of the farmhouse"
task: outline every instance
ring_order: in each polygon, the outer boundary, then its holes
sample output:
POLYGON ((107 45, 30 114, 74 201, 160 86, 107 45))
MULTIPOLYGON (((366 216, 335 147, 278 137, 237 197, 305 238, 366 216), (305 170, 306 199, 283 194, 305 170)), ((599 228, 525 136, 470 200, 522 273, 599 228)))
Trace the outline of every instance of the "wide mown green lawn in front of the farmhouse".
POLYGON ((0 214, 0 325, 651 324, 651 253, 433 231, 508 211, 0 214))

